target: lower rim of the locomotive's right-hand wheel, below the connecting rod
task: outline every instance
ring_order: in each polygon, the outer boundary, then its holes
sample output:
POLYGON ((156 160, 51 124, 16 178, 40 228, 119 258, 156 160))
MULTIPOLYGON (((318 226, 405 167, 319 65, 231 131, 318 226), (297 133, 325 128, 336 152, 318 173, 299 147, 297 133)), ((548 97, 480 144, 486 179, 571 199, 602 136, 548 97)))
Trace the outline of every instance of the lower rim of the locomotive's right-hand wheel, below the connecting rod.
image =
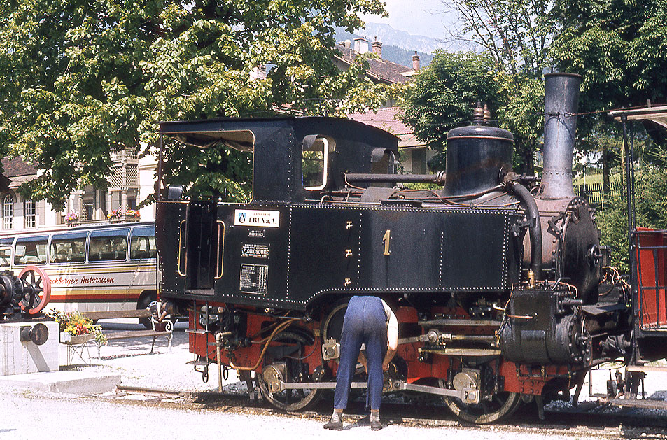
POLYGON ((455 397, 445 397, 444 402, 460 420, 483 425, 512 416, 521 405, 521 396, 518 392, 499 392, 491 401, 484 400, 479 404, 464 404, 455 397))

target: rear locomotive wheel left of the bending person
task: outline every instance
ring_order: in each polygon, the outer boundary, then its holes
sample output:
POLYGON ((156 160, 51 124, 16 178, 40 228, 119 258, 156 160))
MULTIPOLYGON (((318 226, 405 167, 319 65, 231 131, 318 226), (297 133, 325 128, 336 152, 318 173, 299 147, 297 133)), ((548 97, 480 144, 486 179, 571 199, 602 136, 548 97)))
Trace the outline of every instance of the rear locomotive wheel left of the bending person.
MULTIPOLYGON (((276 368, 273 365, 280 362, 290 362, 290 360, 299 360, 308 353, 306 353, 306 346, 308 341, 304 336, 297 332, 281 332, 274 337, 274 342, 282 342, 286 346, 299 346, 300 349, 283 359, 274 359, 273 364, 267 364, 262 371, 262 374, 257 375, 257 383, 262 391, 262 395, 267 399, 269 404, 281 409, 283 411, 300 411, 306 409, 308 406, 315 404, 321 395, 322 390, 318 389, 287 389, 278 392, 269 390, 272 381, 281 380, 288 382, 284 370, 276 368)), ((310 381, 310 378, 305 378, 305 381, 310 381)), ((298 382, 298 381, 297 381, 298 382)))

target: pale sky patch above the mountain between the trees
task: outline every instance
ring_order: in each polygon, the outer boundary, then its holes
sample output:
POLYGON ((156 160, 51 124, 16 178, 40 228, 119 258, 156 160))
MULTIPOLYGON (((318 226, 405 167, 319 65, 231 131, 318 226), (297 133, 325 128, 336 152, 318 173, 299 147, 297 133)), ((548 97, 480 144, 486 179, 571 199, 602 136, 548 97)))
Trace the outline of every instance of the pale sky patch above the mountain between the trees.
POLYGON ((369 23, 386 23, 394 29, 412 35, 438 38, 444 33, 444 23, 451 22, 451 14, 444 13, 442 0, 384 0, 388 18, 362 15, 369 23))

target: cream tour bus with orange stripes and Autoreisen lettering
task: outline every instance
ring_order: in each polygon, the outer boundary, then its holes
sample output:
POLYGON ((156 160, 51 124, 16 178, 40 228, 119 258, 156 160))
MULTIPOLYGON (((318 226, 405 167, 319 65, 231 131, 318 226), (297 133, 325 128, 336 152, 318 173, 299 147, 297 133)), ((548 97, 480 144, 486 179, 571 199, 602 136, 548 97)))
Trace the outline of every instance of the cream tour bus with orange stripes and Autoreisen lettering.
MULTIPOLYGON (((147 308, 157 301, 156 264, 154 222, 0 235, 0 271, 37 285, 41 302, 48 301, 33 312, 147 308)), ((140 322, 150 327, 148 318, 140 322)))

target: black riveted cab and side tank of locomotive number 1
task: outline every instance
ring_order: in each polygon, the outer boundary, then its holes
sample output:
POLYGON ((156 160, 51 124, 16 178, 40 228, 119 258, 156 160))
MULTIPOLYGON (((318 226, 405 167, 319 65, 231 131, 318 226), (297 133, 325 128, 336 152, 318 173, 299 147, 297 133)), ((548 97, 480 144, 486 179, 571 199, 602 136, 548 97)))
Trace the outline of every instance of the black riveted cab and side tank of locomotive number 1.
MULTIPOLYGON (((519 204, 470 210, 443 203, 433 190, 397 189, 402 179, 439 176, 398 178, 398 139, 387 132, 335 118, 167 122, 160 129, 186 144, 253 153, 247 204, 178 195, 158 204, 163 297, 305 311, 360 293, 415 301, 437 294, 446 303, 451 292, 502 292, 518 280, 521 241, 510 228, 522 218, 519 204)), ((511 148, 505 151, 511 161, 511 148)), ((465 170, 457 179, 465 180, 465 170)))

